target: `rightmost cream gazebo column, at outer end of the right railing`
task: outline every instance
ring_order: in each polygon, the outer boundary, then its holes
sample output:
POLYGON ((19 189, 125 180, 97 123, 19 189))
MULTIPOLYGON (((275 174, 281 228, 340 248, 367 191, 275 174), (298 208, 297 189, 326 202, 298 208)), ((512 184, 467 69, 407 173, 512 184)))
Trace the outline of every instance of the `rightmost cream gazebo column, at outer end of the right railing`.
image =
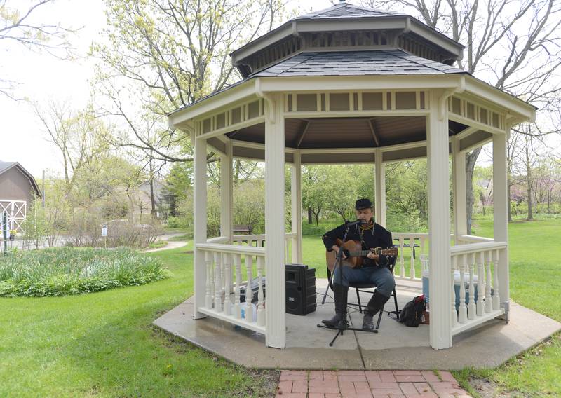
MULTIPOLYGON (((493 238, 508 242, 508 188, 506 170, 506 134, 493 135, 493 238)), ((508 249, 499 256, 499 297, 508 320, 508 249)))

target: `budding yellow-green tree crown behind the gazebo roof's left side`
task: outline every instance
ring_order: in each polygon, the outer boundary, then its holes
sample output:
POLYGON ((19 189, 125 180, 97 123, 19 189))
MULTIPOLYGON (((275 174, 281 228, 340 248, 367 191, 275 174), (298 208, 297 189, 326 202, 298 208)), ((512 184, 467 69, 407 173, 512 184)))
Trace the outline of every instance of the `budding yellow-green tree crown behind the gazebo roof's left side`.
POLYGON ((132 128, 133 117, 121 104, 119 92, 139 98, 144 111, 165 116, 221 90, 239 78, 229 62, 231 50, 271 30, 285 7, 280 0, 105 0, 105 4, 107 43, 95 43, 91 50, 100 59, 98 81, 115 106, 113 113, 131 127, 132 142, 171 162, 192 161, 185 133, 162 130, 157 139, 161 146, 143 139, 132 128), (114 81, 119 81, 118 88, 114 81), (173 146, 180 147, 180 155, 168 153, 173 146))

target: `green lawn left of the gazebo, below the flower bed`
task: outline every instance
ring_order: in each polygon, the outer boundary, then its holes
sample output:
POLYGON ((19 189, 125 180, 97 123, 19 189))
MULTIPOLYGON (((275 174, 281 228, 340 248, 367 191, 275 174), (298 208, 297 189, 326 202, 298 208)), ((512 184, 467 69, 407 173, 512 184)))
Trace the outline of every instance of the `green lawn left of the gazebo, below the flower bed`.
POLYGON ((271 394, 276 373, 246 371, 151 327, 192 292, 185 250, 150 254, 173 272, 168 280, 83 296, 0 299, 0 397, 271 394))

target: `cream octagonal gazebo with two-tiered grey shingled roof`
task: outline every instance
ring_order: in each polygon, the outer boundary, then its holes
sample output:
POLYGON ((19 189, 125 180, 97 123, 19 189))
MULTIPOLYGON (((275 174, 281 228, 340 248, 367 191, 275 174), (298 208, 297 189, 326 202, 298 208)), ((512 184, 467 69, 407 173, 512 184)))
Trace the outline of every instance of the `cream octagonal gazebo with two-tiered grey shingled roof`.
MULTIPOLYGON (((410 15, 341 2, 234 51, 242 81, 169 115, 170 128, 190 132, 194 143, 195 318, 258 331, 267 346, 284 348, 285 263, 302 262, 301 165, 374 163, 376 220, 384 226, 384 163, 426 158, 429 231, 393 235, 401 247, 418 242, 428 258, 431 347, 450 348, 456 334, 496 317, 508 320, 506 140, 511 126, 532 120, 536 109, 453 67, 463 48, 410 15), (487 142, 493 143, 493 239, 466 231, 465 153, 487 142), (212 239, 208 146, 221 156, 221 236, 212 239), (264 235, 232 233, 234 157, 265 162, 264 235), (241 245, 248 240, 257 245, 241 245), (253 313, 240 303, 240 290, 256 276, 266 277, 266 298, 259 283, 253 313), (458 284, 468 286, 467 300, 454 289, 458 284)), ((413 259, 398 259, 396 279, 420 276, 413 259)))

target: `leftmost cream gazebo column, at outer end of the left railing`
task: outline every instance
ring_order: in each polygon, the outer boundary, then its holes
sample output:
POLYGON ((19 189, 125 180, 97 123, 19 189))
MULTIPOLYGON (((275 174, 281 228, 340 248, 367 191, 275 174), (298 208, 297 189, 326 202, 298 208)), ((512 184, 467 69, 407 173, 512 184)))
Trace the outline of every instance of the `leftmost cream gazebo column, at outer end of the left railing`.
POLYGON ((205 253, 197 249, 198 243, 206 243, 206 139, 194 139, 194 189, 193 189, 193 278, 194 318, 206 315, 197 309, 205 306, 206 265, 205 253))

